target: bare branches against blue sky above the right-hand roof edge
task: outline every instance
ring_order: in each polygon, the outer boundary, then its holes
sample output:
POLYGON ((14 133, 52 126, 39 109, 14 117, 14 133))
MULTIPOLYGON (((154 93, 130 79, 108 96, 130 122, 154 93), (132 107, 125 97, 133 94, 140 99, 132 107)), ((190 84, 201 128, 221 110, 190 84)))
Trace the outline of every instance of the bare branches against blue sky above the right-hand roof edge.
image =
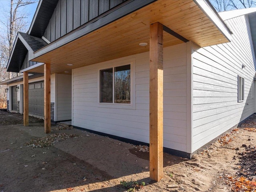
POLYGON ((218 12, 256 6, 256 0, 210 0, 210 2, 218 12))

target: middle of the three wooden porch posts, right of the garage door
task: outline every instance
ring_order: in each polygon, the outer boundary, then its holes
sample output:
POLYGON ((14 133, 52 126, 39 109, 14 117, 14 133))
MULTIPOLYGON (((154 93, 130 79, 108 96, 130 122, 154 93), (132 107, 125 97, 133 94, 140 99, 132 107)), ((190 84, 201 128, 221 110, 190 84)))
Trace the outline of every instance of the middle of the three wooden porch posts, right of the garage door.
POLYGON ((51 65, 44 64, 44 132, 51 132, 51 65))

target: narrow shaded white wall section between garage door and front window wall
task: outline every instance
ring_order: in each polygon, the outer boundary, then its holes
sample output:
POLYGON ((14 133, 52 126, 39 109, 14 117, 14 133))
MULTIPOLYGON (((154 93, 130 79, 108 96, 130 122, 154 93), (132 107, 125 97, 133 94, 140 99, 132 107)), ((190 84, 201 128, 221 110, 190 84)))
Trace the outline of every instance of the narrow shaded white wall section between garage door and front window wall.
POLYGON ((55 88, 55 121, 71 120, 72 76, 55 74, 55 88))

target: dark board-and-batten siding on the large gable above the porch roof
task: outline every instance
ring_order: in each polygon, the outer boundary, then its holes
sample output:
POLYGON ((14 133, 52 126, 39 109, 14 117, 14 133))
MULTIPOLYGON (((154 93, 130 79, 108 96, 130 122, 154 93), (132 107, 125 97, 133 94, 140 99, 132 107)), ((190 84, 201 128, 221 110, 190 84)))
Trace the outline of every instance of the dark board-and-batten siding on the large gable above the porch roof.
POLYGON ((126 0, 60 0, 44 32, 50 42, 126 0))

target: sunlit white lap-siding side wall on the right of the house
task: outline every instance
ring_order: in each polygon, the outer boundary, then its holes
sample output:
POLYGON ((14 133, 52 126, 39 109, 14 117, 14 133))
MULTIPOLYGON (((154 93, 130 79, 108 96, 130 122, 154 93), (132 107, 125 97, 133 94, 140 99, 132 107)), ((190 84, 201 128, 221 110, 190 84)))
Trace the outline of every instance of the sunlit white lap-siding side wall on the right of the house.
POLYGON ((232 42, 193 53, 192 151, 204 146, 255 112, 252 81, 255 55, 246 16, 225 21, 232 42), (246 68, 242 69, 242 64, 246 68), (244 78, 244 102, 238 102, 238 75, 244 78))

